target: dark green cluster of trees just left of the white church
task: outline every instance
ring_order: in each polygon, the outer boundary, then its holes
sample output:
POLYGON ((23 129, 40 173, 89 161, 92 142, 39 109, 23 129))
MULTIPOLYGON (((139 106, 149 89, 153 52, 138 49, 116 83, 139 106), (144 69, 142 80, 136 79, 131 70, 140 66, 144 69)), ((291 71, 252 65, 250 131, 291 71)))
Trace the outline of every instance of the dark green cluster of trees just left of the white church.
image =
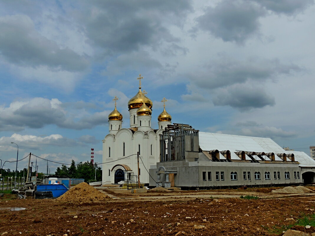
POLYGON ((55 175, 68 176, 72 179, 84 179, 85 182, 96 182, 102 180, 102 169, 92 164, 92 161, 79 162, 77 165, 74 160, 71 161, 71 166, 58 166, 55 175), (96 171, 96 179, 95 179, 96 171))

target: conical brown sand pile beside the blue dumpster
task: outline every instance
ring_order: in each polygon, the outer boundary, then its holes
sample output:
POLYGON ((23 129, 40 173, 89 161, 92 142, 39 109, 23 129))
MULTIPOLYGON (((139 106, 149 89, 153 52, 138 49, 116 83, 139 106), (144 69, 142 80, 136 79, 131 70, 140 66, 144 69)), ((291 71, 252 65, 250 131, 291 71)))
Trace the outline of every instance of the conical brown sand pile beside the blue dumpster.
POLYGON ((100 193, 97 189, 89 184, 83 182, 77 184, 75 187, 70 188, 66 193, 62 194, 57 201, 83 204, 108 201, 110 197, 100 193))

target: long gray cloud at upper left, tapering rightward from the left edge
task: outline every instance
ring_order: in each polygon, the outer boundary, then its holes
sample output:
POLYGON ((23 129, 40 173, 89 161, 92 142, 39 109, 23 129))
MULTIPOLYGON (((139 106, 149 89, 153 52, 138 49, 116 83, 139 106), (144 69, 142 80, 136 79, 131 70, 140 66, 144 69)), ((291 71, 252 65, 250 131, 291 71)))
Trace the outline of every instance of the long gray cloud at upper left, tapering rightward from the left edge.
POLYGON ((88 66, 84 57, 41 36, 26 15, 0 17, 0 31, 1 55, 15 65, 67 71, 81 71, 88 66))

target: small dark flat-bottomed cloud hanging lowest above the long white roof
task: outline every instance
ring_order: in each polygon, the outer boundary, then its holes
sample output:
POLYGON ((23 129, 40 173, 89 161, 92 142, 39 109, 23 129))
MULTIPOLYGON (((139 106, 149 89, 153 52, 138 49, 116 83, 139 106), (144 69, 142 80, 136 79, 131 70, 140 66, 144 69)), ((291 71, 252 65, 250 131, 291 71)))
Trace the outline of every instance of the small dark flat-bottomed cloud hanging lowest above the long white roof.
POLYGON ((263 89, 255 87, 244 87, 244 85, 233 85, 227 89, 221 90, 213 98, 213 104, 216 106, 231 106, 241 111, 252 108, 262 108, 264 106, 275 104, 275 99, 267 94, 263 89))

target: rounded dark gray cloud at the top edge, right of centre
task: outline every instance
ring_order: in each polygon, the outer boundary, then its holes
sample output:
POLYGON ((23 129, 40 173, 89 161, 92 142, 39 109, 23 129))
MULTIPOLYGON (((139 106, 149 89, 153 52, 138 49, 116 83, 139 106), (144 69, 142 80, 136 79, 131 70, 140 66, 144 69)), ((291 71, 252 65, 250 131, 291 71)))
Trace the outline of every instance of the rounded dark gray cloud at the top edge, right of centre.
POLYGON ((208 7, 197 18, 198 28, 209 31, 223 41, 243 43, 259 29, 259 17, 266 11, 258 4, 245 0, 224 0, 208 7))

